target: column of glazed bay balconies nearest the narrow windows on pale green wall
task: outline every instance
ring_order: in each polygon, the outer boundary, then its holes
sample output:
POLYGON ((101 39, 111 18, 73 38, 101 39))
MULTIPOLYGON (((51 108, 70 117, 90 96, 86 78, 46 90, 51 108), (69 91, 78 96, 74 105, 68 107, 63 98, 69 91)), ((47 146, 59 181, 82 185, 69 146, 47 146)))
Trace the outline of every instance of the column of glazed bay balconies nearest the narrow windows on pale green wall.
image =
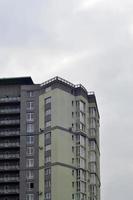
POLYGON ((76 102, 77 137, 76 137, 76 162, 77 162, 77 200, 87 199, 87 167, 86 167, 86 134, 85 134, 85 103, 76 102))

